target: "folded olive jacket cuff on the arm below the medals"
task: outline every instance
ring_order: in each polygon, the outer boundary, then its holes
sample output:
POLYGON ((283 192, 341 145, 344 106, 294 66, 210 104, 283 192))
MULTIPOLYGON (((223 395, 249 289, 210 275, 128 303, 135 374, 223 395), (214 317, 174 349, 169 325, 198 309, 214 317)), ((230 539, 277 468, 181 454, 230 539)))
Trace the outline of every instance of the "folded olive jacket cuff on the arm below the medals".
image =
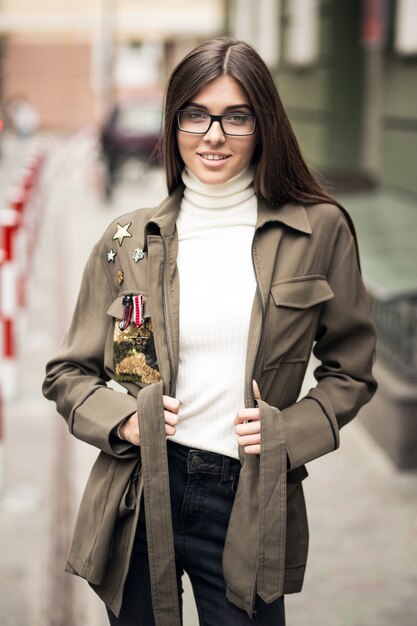
POLYGON ((136 412, 133 396, 109 387, 98 387, 74 412, 72 433, 77 439, 112 456, 133 456, 136 446, 115 436, 124 419, 136 412))

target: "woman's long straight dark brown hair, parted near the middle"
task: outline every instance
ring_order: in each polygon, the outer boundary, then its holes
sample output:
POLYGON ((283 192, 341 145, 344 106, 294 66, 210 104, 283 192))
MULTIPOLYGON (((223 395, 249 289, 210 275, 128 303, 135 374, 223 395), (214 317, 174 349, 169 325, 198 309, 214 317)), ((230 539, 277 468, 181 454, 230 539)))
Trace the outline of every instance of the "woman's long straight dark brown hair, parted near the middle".
POLYGON ((177 144, 176 113, 210 81, 227 74, 246 92, 257 118, 253 155, 255 189, 272 205, 337 202, 308 169, 272 75, 249 44, 229 37, 203 43, 177 65, 165 93, 164 160, 168 192, 181 183, 184 163, 177 144))

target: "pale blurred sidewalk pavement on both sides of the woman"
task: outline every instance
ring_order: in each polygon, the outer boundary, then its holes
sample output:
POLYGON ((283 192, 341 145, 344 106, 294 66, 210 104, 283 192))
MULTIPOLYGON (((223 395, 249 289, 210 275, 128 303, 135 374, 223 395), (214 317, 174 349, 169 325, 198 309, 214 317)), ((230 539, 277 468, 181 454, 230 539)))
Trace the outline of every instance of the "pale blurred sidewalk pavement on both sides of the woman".
MULTIPOLYGON (((62 573, 96 451, 68 435, 40 386, 93 243, 113 217, 155 204, 164 186, 154 170, 141 186, 125 183, 106 206, 97 195, 89 136, 51 138, 51 151, 45 223, 22 320, 19 392, 5 414, 0 622, 104 626, 104 609, 88 585, 62 573)), ((398 472, 360 418, 341 440, 338 451, 308 467, 309 563, 303 592, 286 597, 287 625, 416 626, 417 472, 398 472)), ((197 623, 186 586, 184 626, 197 623)))

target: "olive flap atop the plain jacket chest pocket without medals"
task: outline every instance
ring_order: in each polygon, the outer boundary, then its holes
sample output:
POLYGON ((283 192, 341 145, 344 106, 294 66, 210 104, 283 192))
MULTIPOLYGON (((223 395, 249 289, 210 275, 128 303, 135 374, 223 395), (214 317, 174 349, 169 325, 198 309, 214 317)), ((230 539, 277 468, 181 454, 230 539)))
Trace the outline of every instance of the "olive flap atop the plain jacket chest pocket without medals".
POLYGON ((334 298, 334 293, 323 276, 302 276, 272 285, 271 294, 276 306, 307 309, 334 298))

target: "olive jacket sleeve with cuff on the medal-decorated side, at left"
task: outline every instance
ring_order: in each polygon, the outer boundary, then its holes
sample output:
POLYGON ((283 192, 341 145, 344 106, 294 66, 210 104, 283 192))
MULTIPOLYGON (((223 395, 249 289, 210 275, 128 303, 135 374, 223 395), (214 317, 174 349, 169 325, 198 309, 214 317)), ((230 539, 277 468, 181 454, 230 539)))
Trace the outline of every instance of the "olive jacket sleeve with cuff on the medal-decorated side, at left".
POLYGON ((84 270, 69 330, 58 354, 46 365, 42 391, 56 402, 75 437, 125 458, 137 450, 121 440, 112 445, 112 431, 135 413, 137 402, 106 385, 104 350, 110 323, 106 311, 112 301, 107 280, 97 244, 84 270))

